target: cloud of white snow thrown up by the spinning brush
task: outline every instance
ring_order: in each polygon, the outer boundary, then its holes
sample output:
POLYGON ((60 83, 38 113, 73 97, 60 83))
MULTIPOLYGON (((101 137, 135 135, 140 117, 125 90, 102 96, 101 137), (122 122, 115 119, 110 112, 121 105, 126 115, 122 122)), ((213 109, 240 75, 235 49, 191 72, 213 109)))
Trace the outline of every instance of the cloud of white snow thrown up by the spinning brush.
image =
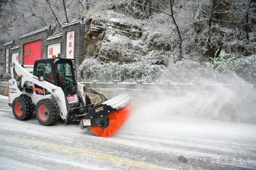
MULTIPOLYGON (((180 117, 256 123, 256 90, 236 74, 189 67, 176 67, 169 74, 180 75, 188 83, 172 82, 166 88, 136 92, 134 111, 124 129, 180 117)), ((172 80, 170 76, 164 79, 172 80)))

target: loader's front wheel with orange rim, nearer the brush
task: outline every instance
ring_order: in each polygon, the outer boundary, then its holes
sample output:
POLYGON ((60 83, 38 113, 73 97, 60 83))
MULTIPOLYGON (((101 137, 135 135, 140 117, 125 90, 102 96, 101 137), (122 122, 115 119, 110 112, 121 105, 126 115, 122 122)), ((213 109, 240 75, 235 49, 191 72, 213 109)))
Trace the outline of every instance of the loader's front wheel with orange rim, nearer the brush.
POLYGON ((53 125, 60 117, 60 108, 54 99, 42 99, 36 104, 35 113, 40 124, 53 125))

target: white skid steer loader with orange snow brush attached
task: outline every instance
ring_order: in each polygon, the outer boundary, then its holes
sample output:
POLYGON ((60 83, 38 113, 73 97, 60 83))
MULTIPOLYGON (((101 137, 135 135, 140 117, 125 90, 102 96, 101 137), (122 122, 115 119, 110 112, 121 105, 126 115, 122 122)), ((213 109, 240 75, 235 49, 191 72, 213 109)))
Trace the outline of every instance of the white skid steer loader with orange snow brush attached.
POLYGON ((74 59, 40 59, 35 61, 33 74, 19 63, 11 64, 9 104, 18 120, 36 115, 42 125, 53 125, 59 118, 66 124, 80 122, 97 136, 113 136, 131 111, 130 97, 119 95, 92 104, 84 95, 84 85, 76 82, 74 59))

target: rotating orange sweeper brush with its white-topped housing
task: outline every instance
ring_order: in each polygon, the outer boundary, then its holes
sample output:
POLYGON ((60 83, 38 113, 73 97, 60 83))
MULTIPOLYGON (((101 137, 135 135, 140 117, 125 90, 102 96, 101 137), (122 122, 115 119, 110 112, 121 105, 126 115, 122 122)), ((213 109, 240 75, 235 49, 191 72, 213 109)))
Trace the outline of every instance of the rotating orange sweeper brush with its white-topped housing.
POLYGON ((97 104, 81 120, 81 128, 90 127, 96 136, 113 136, 131 112, 130 97, 120 95, 97 104))

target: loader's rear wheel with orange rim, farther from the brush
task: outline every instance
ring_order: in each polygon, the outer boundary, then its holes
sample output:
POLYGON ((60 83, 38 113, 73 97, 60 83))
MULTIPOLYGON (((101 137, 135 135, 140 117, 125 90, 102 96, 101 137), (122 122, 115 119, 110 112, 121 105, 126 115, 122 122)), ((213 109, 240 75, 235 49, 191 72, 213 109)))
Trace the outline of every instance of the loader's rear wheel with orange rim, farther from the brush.
POLYGON ((21 95, 13 101, 12 112, 18 120, 28 120, 32 117, 34 110, 35 106, 29 96, 21 95))

